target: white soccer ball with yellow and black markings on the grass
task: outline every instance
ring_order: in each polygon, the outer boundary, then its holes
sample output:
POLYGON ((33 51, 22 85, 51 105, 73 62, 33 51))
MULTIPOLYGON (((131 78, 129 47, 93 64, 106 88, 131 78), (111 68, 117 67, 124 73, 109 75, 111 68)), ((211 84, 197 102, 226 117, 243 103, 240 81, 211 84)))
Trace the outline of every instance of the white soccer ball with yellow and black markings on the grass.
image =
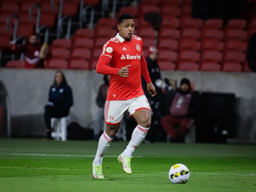
POLYGON ((169 171, 169 179, 172 183, 186 183, 189 176, 189 169, 180 163, 173 165, 169 171))

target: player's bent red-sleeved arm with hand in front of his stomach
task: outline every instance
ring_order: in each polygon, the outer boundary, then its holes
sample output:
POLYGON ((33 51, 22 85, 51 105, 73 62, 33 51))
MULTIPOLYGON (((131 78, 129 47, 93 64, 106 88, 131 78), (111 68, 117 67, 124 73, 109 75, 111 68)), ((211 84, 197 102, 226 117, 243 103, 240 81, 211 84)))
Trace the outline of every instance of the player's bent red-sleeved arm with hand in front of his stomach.
POLYGON ((96 66, 96 72, 103 75, 119 75, 121 77, 128 77, 128 67, 130 67, 131 65, 127 65, 125 67, 118 69, 108 66, 110 61, 111 57, 107 55, 101 55, 96 66))

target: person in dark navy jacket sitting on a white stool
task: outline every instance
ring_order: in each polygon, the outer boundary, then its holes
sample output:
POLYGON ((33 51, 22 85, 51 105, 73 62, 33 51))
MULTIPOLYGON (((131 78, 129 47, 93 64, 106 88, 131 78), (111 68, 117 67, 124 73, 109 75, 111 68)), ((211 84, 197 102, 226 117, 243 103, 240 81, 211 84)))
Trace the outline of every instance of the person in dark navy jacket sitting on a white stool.
POLYGON ((51 138, 51 118, 61 118, 67 116, 70 107, 73 105, 73 96, 70 86, 64 73, 57 71, 54 76, 54 83, 49 89, 47 105, 44 108, 44 120, 46 124, 47 138, 51 138))

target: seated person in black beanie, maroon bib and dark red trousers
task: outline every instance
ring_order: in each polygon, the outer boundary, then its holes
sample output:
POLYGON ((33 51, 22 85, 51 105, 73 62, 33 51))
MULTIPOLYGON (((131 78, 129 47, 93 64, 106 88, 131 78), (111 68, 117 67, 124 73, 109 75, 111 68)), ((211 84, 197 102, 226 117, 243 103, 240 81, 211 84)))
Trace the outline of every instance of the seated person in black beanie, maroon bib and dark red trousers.
POLYGON ((192 91, 189 79, 183 78, 180 88, 166 92, 161 125, 172 142, 182 142, 200 109, 199 94, 192 91))

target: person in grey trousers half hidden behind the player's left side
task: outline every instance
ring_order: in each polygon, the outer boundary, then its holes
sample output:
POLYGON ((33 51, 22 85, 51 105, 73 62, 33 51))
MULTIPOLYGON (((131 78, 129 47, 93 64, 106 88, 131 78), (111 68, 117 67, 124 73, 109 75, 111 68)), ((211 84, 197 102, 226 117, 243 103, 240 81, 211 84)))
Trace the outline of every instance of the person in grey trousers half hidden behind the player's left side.
POLYGON ((98 105, 98 111, 96 115, 94 116, 94 126, 93 126, 93 140, 99 140, 99 137, 101 136, 101 131, 105 131, 106 124, 104 123, 104 107, 105 102, 107 100, 108 95, 108 87, 109 87, 109 80, 110 75, 104 75, 103 80, 104 83, 100 85, 98 95, 96 97, 96 103, 98 105))

